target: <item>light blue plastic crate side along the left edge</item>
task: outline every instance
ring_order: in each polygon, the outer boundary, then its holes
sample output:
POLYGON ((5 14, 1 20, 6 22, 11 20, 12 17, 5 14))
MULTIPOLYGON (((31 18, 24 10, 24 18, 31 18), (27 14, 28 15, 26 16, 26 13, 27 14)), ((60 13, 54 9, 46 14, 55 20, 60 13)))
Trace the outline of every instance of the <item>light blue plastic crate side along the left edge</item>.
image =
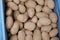
POLYGON ((6 40, 3 0, 0 0, 0 40, 6 40))

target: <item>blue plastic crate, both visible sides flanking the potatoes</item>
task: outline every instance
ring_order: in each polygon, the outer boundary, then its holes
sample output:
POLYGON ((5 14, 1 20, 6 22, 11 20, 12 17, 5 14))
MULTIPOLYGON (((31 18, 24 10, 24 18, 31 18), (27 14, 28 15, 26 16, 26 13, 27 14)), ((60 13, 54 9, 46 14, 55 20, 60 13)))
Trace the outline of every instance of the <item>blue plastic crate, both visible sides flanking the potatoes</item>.
MULTIPOLYGON (((60 38, 60 0, 54 0, 55 2, 55 9, 56 15, 58 16, 58 37, 60 38)), ((7 32, 5 29, 5 22, 4 22, 4 2, 0 0, 0 40, 7 40, 7 32)))

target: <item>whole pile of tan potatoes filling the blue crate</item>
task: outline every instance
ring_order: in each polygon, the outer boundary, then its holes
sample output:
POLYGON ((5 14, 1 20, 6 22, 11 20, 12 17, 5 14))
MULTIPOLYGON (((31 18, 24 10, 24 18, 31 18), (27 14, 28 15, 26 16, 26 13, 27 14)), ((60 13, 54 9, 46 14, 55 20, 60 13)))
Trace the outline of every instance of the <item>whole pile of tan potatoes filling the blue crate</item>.
POLYGON ((59 40, 53 0, 6 0, 9 40, 59 40))

